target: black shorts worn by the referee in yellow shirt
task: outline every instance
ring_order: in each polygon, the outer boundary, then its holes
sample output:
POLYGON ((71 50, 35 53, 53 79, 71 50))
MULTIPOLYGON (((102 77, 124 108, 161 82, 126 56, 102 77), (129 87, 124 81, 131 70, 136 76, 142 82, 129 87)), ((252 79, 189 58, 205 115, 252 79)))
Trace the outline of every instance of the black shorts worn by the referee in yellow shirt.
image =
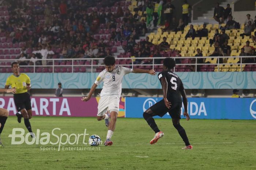
POLYGON ((20 93, 14 94, 14 103, 18 112, 22 109, 30 110, 31 109, 31 101, 29 93, 20 93))

